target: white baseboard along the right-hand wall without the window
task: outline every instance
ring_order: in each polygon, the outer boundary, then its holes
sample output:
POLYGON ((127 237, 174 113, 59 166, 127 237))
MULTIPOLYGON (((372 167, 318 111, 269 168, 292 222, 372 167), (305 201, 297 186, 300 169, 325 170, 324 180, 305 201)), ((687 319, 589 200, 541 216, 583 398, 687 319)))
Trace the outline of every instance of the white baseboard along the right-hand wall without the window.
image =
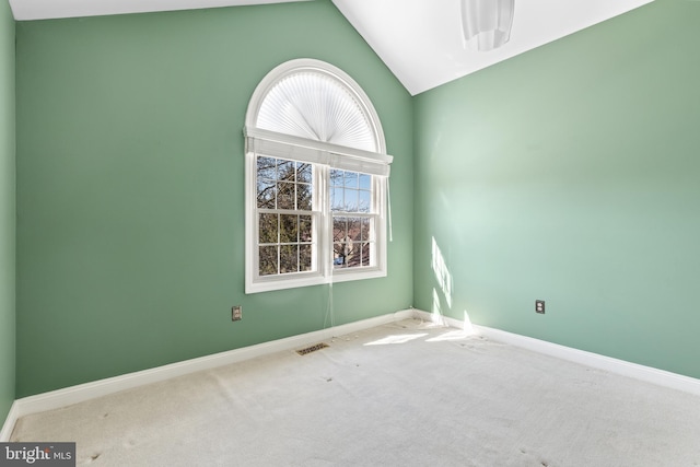
POLYGON ((472 325, 471 323, 465 323, 459 319, 435 315, 428 312, 415 311, 415 313, 416 316, 421 319, 442 323, 459 329, 470 328, 475 334, 497 342, 509 343, 511 346, 545 353, 558 359, 568 360, 570 362, 580 363, 586 366, 605 370, 610 373, 700 396, 700 380, 696 380, 690 376, 684 376, 677 373, 644 366, 627 362, 625 360, 614 359, 611 357, 600 355, 598 353, 586 352, 584 350, 573 349, 571 347, 560 346, 558 343, 547 342, 532 337, 493 329, 487 326, 472 325))

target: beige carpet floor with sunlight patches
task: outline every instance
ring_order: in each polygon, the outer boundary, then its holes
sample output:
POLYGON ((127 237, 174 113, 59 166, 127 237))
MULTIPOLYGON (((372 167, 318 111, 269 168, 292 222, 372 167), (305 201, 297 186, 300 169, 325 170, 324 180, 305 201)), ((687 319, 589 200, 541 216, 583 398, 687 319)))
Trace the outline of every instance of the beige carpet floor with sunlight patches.
POLYGON ((700 466, 700 397, 417 319, 24 417, 94 466, 700 466))

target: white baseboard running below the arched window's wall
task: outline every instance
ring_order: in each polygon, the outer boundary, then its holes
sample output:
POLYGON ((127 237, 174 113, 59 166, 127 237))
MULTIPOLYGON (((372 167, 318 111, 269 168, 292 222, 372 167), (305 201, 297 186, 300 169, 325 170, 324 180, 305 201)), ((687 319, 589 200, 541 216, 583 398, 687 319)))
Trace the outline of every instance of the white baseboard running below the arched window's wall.
MULTIPOLYGON (((143 370, 136 373, 128 373, 106 380, 70 386, 63 389, 51 390, 49 393, 37 394, 36 396, 23 397, 15 400, 12 405, 12 410, 10 410, 10 415, 8 416, 2 429, 2 436, 7 435, 9 437, 14 428, 14 422, 20 417, 24 417, 30 413, 58 409, 72 404, 142 386, 144 384, 170 380, 172 377, 236 363, 273 352, 299 349, 336 336, 357 332, 362 329, 381 326, 387 323, 412 318, 415 312, 412 310, 405 310, 300 336, 292 336, 242 349, 214 353, 212 355, 200 357, 198 359, 185 360, 183 362, 158 366, 155 369, 143 370)), ((0 439, 0 441, 2 440, 3 439, 0 439)))

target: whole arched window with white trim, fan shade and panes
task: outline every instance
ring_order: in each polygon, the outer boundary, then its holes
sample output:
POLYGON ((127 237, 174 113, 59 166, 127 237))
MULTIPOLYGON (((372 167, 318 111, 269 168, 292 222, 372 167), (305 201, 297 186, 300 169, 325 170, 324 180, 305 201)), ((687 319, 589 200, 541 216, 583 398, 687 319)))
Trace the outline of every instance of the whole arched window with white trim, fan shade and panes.
POLYGON ((386 276, 393 157, 349 75, 280 65, 250 98, 245 137, 246 293, 386 276))

